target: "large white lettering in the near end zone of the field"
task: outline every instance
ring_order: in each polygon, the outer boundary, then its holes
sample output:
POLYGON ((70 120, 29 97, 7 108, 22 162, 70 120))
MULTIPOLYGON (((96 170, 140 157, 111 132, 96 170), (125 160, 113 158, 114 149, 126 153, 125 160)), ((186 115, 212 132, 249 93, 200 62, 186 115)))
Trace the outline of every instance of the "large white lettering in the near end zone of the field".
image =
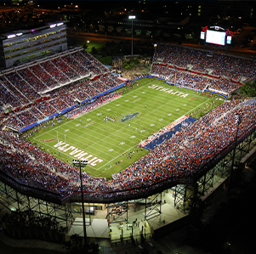
POLYGON ((69 155, 72 155, 73 157, 81 161, 88 161, 88 164, 90 164, 93 167, 97 166, 98 163, 103 162, 103 160, 101 160, 100 158, 94 155, 88 155, 87 152, 80 150, 77 147, 72 146, 70 144, 66 144, 63 141, 60 141, 57 144, 54 144, 54 148, 57 148, 58 150, 63 152, 70 151, 69 155))

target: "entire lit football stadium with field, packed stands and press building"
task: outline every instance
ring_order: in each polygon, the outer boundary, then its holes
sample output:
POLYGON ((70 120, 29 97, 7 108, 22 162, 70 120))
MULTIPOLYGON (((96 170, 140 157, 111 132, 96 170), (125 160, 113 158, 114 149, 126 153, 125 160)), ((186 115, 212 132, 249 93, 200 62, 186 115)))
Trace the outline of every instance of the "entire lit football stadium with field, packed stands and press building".
POLYGON ((52 217, 70 235, 120 240, 136 224, 151 237, 227 184, 255 143, 256 100, 230 99, 256 78, 255 59, 162 43, 150 74, 128 80, 67 48, 65 24, 23 32, 2 37, 9 211, 52 217))

